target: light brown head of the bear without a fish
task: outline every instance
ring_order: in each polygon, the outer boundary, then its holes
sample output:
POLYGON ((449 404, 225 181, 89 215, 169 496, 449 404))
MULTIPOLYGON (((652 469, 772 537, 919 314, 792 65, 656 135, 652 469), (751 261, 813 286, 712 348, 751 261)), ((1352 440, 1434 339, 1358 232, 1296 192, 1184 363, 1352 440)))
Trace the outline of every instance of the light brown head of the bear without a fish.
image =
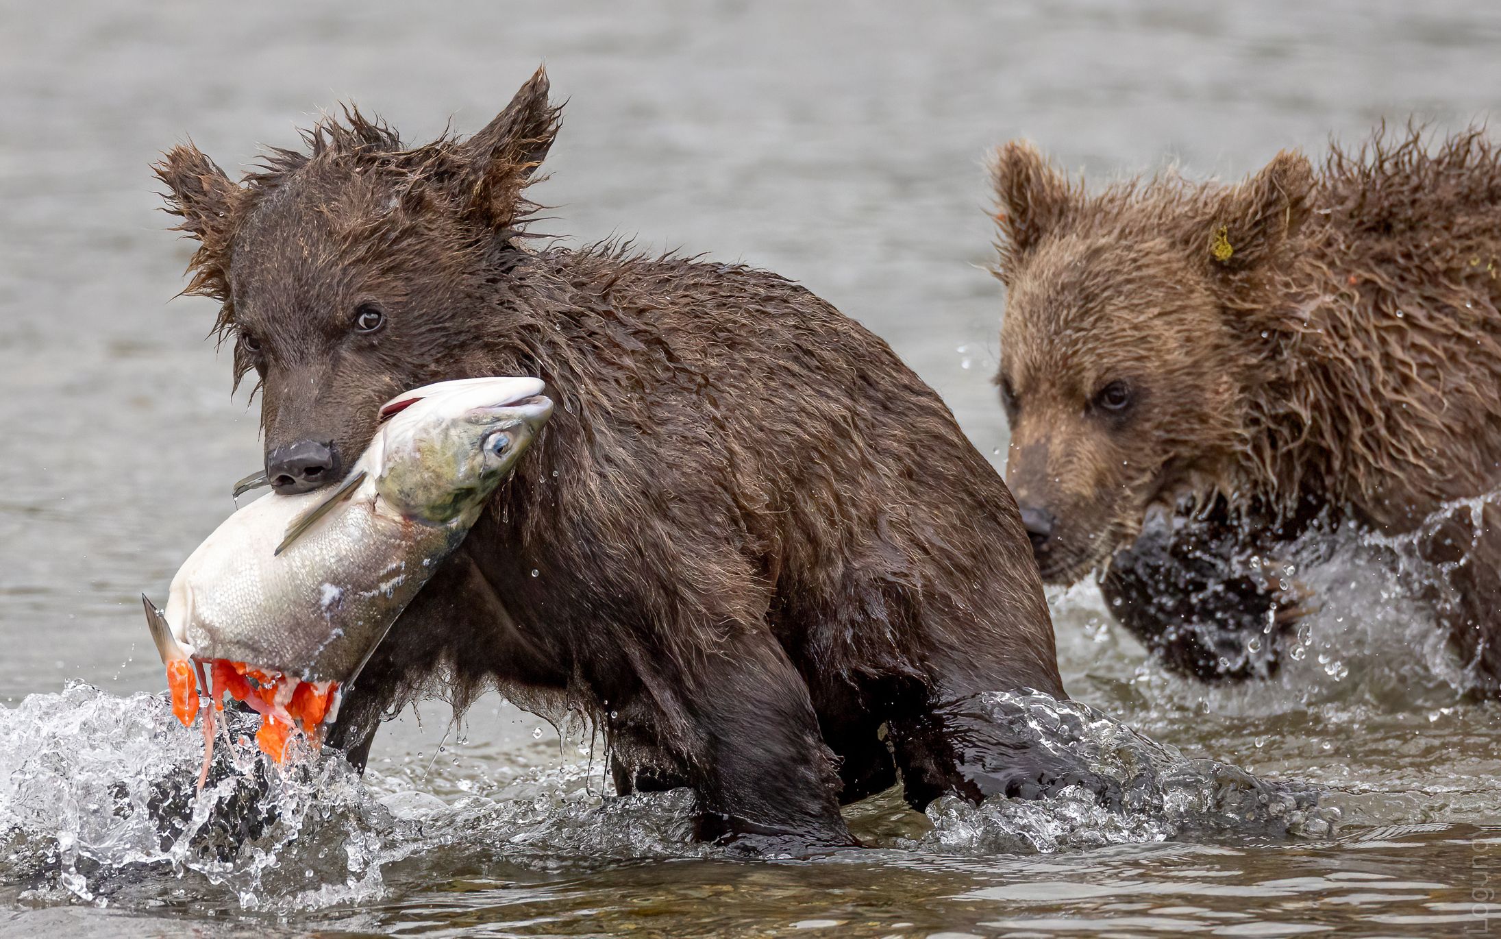
POLYGON ((1313 170, 1283 152, 1238 186, 1166 174, 1088 195, 1010 143, 991 173, 1006 478, 1043 580, 1072 583, 1151 505, 1237 484, 1313 170))

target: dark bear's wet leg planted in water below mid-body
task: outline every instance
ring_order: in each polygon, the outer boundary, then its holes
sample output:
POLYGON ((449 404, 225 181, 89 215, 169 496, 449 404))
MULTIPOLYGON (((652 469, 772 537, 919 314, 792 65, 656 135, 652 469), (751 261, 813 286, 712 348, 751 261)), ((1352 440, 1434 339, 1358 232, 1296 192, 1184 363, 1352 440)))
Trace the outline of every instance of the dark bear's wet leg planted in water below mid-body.
POLYGON ((681 678, 692 729, 680 745, 699 837, 766 852, 856 846, 808 685, 770 633, 729 636, 690 672, 681 678))

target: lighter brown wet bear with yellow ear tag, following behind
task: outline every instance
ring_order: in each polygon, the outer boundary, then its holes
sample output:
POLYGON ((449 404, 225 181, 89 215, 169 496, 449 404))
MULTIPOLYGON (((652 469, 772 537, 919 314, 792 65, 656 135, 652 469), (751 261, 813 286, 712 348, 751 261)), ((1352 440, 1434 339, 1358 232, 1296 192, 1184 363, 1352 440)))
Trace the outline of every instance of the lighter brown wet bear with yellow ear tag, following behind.
POLYGON ((1430 153, 1378 132, 1234 186, 1088 195, 1025 143, 992 170, 1007 481, 1043 578, 1106 568, 1171 666, 1246 676, 1276 667, 1297 616, 1265 559, 1337 524, 1402 535, 1474 681, 1501 687, 1501 506, 1444 511, 1501 485, 1484 137, 1430 153), (1144 530, 1153 506, 1166 521, 1144 530))

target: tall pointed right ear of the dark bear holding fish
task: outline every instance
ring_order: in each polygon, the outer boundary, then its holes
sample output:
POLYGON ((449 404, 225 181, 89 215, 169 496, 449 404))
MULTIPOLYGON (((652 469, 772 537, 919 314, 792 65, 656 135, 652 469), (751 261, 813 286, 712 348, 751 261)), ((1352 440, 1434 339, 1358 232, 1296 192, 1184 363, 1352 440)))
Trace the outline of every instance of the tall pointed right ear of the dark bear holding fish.
POLYGON ((563 105, 548 102, 548 74, 539 68, 495 120, 461 144, 459 195, 489 227, 504 231, 533 209, 521 191, 534 182, 561 120, 563 105))

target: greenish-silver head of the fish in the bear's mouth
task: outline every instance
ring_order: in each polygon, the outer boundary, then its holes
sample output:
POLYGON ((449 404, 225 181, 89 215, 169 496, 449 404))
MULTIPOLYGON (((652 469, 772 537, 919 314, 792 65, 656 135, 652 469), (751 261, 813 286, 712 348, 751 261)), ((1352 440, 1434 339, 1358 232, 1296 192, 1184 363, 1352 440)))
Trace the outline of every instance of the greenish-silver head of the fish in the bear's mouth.
POLYGON ((459 379, 392 398, 371 448, 377 491, 407 518, 473 521, 552 416, 543 388, 539 379, 459 379))

